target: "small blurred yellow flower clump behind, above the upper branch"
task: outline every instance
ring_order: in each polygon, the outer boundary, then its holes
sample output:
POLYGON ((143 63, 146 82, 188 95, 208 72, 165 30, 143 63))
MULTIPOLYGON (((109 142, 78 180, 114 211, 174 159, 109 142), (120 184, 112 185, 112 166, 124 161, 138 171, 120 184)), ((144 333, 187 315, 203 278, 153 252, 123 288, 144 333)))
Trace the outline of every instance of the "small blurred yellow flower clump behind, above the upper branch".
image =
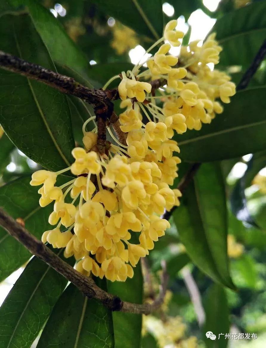
POLYGON ((118 23, 114 25, 113 36, 111 47, 114 48, 119 55, 138 45, 138 39, 136 38, 134 30, 123 24, 118 23))

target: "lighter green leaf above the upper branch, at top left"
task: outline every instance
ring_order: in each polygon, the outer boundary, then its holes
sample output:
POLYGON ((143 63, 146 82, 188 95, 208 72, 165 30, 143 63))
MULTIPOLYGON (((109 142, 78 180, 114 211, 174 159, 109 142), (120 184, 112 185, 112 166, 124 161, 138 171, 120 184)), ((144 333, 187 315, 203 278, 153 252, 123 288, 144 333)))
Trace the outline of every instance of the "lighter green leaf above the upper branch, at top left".
POLYGON ((30 12, 34 26, 47 46, 53 61, 67 65, 89 80, 89 63, 86 56, 69 38, 62 24, 48 9, 35 0, 7 1, 13 9, 25 7, 30 12))

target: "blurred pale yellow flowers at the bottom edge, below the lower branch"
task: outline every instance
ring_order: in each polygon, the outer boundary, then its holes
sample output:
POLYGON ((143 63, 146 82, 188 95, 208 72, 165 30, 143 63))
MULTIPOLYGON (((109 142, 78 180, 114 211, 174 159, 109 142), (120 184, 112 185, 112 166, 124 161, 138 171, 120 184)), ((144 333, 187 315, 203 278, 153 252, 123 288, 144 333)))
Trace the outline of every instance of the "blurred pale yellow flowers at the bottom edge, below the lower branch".
POLYGON ((143 316, 143 335, 147 332, 153 335, 160 348, 197 348, 197 338, 186 338, 186 329, 179 316, 166 317, 164 321, 151 315, 143 316))

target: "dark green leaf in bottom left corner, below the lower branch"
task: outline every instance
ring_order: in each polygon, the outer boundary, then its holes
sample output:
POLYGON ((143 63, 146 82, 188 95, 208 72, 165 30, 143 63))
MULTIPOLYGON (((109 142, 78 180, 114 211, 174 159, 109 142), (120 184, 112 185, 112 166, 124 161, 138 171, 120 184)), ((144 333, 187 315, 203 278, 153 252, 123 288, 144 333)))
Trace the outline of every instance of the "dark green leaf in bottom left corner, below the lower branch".
MULTIPOLYGON (((63 250, 54 252, 63 254, 63 250)), ((0 346, 30 348, 66 283, 63 276, 34 257, 0 308, 0 346)))

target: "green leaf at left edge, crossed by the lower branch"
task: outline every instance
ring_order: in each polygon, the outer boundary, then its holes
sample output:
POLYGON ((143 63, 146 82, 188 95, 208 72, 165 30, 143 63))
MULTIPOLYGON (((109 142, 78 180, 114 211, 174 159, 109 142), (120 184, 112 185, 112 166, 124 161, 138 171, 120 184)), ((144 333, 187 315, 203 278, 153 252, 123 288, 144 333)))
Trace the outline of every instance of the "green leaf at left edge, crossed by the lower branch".
MULTIPOLYGON (((51 229, 48 217, 53 207, 39 206, 38 188, 30 186, 30 180, 30 176, 25 176, 0 187, 0 206, 15 219, 21 217, 25 222, 25 228, 37 238, 41 238, 45 230, 51 229)), ((63 180, 65 182, 64 178, 63 180)), ((30 256, 31 253, 26 248, 6 230, 0 228, 0 282, 30 256)))

